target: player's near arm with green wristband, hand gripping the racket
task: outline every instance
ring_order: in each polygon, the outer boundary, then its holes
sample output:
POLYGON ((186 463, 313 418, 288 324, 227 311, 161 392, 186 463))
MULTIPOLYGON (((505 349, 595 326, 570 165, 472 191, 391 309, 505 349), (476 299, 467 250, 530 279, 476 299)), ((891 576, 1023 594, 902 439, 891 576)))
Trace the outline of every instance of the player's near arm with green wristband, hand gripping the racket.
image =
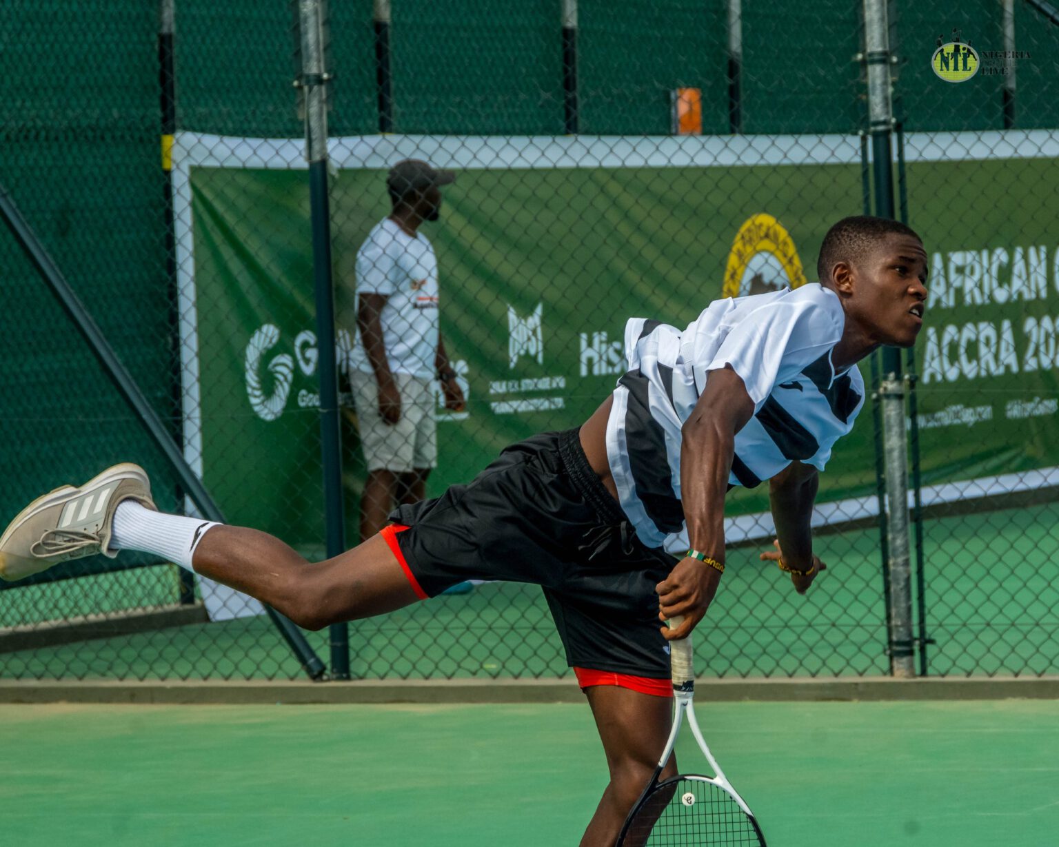
POLYGON ((692 548, 711 559, 684 557, 656 585, 659 617, 683 615, 676 629, 662 627, 672 641, 685 637, 706 614, 724 565, 724 494, 728 492, 735 436, 754 414, 754 401, 730 367, 711 371, 706 386, 684 422, 680 456, 680 493, 692 548))

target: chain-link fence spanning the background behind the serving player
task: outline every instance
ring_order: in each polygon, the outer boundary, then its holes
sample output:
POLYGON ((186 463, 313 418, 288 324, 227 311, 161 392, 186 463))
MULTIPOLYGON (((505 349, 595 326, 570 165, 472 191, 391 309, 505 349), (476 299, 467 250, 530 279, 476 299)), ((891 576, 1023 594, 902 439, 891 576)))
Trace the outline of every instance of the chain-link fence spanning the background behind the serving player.
MULTIPOLYGON (((17 37, 0 50, 0 183, 225 519, 324 558, 337 500, 322 483, 306 89, 291 86, 311 80, 295 10, 79 8, 3 13, 17 37)), ((624 372, 628 318, 683 327, 711 300, 812 283, 828 227, 877 208, 857 3, 329 12, 348 545, 381 508, 373 498, 423 493, 416 471, 435 449, 427 495, 510 443, 587 419, 624 372), (415 236, 384 222, 388 174, 408 159, 455 175, 415 236), (365 250, 379 227, 387 244, 365 250), (402 396, 415 421, 399 459, 392 432, 369 443, 379 377, 358 353, 365 293, 391 309, 380 322, 414 319, 405 340, 427 327, 412 338, 429 348, 419 366, 400 365, 419 394, 402 396), (435 319, 446 359, 432 362, 435 319), (438 363, 452 379, 419 373, 438 363)), ((931 257, 927 326, 904 362, 917 669, 1054 673, 1059 26, 1039 2, 898 2, 890 35, 895 211, 931 257), (943 79, 967 44, 975 75, 943 79)), ((161 508, 201 511, 6 232, 0 259, 0 515, 119 461, 148 469, 161 508)), ((397 340, 382 332, 394 370, 397 340)), ((877 382, 878 361, 861 368, 877 382)), ((822 476, 815 546, 829 570, 807 597, 757 558, 771 543, 765 487, 731 492, 732 566, 700 627, 700 673, 890 671, 874 402, 822 476)), ((348 675, 569 673, 538 588, 461 592, 339 630, 348 675)), ((324 665, 343 677, 336 635, 292 639, 255 601, 125 553, 0 584, 5 678, 274 679, 324 665)))

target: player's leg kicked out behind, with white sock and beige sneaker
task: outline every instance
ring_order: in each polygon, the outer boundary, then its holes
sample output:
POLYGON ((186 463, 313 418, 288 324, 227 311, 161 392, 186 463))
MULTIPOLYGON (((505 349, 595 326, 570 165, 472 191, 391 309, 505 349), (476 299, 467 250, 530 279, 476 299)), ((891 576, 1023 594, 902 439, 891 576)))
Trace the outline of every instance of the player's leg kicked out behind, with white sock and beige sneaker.
POLYGON ((393 611, 421 596, 381 536, 310 564, 266 533, 157 511, 147 474, 131 464, 108 468, 79 487, 56 488, 26 506, 0 536, 0 577, 22 579, 120 549, 162 556, 269 603, 307 629, 393 611))

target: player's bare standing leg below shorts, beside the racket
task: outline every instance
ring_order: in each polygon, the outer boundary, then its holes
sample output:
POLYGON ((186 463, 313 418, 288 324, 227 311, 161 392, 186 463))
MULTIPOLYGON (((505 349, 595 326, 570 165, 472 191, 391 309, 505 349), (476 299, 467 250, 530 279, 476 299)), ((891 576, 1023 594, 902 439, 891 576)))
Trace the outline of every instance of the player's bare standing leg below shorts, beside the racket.
MULTIPOLYGON (((585 689, 607 756, 610 782, 581 839, 580 847, 613 847, 626 816, 640 798, 665 750, 672 700, 616 685, 585 689)), ((676 756, 663 771, 677 773, 676 756)))

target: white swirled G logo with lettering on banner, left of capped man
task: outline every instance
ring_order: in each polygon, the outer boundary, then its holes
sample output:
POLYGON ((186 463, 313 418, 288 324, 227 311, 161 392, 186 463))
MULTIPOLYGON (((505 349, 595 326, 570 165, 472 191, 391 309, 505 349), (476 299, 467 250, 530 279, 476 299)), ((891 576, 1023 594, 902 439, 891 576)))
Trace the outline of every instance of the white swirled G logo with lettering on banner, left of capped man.
MULTIPOLYGON (((311 377, 320 361, 317 335, 311 329, 303 329, 294 337, 291 353, 277 352, 280 343, 280 327, 274 324, 265 324, 247 342, 244 356, 247 399, 254 414, 262 420, 280 418, 287 408, 298 374, 311 377)), ((339 329, 335 337, 335 356, 340 373, 348 374, 352 349, 349 332, 339 329)), ((318 388, 313 384, 311 389, 300 389, 297 395, 298 406, 302 409, 319 408, 318 388)))

